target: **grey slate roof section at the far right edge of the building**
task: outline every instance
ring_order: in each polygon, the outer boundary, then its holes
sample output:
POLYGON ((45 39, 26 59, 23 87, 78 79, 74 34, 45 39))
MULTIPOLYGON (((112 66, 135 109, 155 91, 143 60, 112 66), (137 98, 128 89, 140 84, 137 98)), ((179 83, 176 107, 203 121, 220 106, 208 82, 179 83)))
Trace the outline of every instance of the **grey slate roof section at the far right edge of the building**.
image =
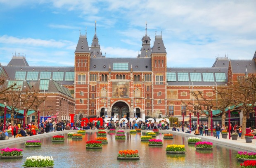
POLYGON ((230 60, 232 73, 256 73, 256 64, 254 60, 230 60))

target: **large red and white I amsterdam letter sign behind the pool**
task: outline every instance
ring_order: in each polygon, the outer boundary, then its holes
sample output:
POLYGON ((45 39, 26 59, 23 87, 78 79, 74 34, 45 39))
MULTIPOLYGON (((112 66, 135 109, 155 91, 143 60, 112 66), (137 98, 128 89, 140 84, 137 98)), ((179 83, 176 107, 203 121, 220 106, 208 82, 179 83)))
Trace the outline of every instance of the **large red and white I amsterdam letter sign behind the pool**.
MULTIPOLYGON (((70 118, 71 118, 71 119, 70 119, 71 123, 73 123, 73 122, 74 122, 74 116, 75 116, 75 114, 69 114, 69 116, 70 116, 70 118)), ((95 118, 90 118, 90 119, 88 119, 88 118, 81 118, 81 120, 82 120, 81 126, 83 126, 84 123, 89 123, 89 122, 92 122, 93 120, 94 120, 94 121, 99 120, 99 121, 100 121, 100 125, 103 125, 103 120, 102 120, 102 118, 96 118, 96 117, 95 117, 95 118)), ((106 123, 109 123, 110 120, 111 120, 111 118, 105 118, 105 122, 106 122, 106 123)), ((148 121, 151 121, 151 122, 155 122, 154 118, 148 118, 147 120, 148 120, 148 121)), ((121 119, 119 120, 119 118, 116 118, 116 116, 114 116, 114 117, 112 118, 112 121, 113 121, 113 122, 119 121, 119 123, 125 121, 125 123, 128 123, 128 120, 127 120, 126 118, 121 118, 121 119)), ((130 118, 130 121, 131 121, 131 122, 135 121, 136 123, 139 122, 139 121, 146 122, 145 114, 142 114, 142 118, 137 118, 137 119, 136 119, 136 118, 130 118)), ((129 121, 129 122, 130 122, 130 121, 129 121)), ((170 123, 170 121, 169 121, 168 118, 165 118, 165 119, 164 119, 164 118, 156 118, 156 123, 159 123, 159 121, 166 121, 166 122, 170 123)), ((149 122, 147 122, 147 123, 149 123, 149 122)))

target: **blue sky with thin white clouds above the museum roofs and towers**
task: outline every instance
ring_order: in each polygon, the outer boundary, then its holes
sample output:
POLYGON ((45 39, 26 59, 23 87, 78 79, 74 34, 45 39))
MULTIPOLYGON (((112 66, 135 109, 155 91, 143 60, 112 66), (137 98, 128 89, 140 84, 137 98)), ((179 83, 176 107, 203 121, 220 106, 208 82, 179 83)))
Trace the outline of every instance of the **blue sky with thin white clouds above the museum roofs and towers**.
POLYGON ((0 63, 73 66, 79 29, 106 57, 136 57, 142 36, 162 31, 168 67, 211 67, 216 57, 252 59, 255 0, 0 0, 0 63), (12 54, 13 53, 13 54, 12 54))

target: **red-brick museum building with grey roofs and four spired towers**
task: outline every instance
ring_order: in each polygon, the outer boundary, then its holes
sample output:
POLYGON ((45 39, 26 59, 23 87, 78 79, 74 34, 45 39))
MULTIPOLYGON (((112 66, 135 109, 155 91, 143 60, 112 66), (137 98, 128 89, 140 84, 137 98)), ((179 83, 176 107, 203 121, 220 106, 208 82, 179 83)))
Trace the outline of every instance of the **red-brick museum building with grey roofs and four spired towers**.
MULTIPOLYGON (((108 58, 100 49, 95 24, 90 46, 87 35, 80 34, 74 66, 30 66, 24 56, 14 55, 9 64, 0 65, 0 73, 7 76, 8 83, 28 86, 38 83, 40 94, 47 96, 44 108, 52 108, 51 115, 58 113, 58 120, 68 120, 69 114, 76 114, 75 119, 106 115, 140 118, 145 114, 182 120, 184 113, 185 121, 189 111, 182 100, 192 102, 190 92, 214 97, 215 88, 244 78, 246 73, 256 73, 256 53, 252 53, 251 60, 217 57, 211 67, 167 67, 166 47, 171 46, 164 45, 162 36, 155 34, 152 41, 146 26, 137 56, 108 58)), ((217 103, 218 95, 215 97, 217 103)), ((218 113, 214 109, 213 114, 218 113)), ((248 122, 254 125, 254 114, 251 115, 248 122)), ((242 123, 240 116, 239 111, 232 111, 231 122, 242 123)), ((200 117, 203 121, 204 116, 200 117)))

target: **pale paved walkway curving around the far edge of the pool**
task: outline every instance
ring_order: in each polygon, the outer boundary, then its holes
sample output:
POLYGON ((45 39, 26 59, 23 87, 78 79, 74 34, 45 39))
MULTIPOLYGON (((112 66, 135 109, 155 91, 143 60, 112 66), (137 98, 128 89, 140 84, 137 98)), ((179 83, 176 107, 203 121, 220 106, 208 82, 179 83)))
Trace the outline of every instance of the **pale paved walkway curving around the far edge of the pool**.
MULTIPOLYGON (((181 130, 181 128, 180 128, 181 130)), ((98 131, 96 130, 86 130, 86 132, 95 132, 98 131)), ((109 130, 107 130, 109 131, 109 130)), ((129 132, 130 130, 124 130, 126 132, 129 132)), ((142 130, 142 132, 147 132, 150 130, 142 130)), ((38 135, 34 135, 34 136, 28 136, 28 137, 18 137, 18 138, 14 138, 14 137, 10 137, 9 140, 1 140, 0 141, 0 148, 3 147, 8 147, 8 144, 13 144, 15 142, 26 142, 27 140, 36 140, 39 138, 43 138, 43 137, 49 137, 49 136, 53 136, 53 135, 62 135, 65 133, 69 133, 69 132, 77 132, 77 130, 64 130, 64 131, 58 131, 58 132, 52 132, 52 133, 44 133, 44 134, 38 134, 38 135)), ((211 137, 211 136, 196 136, 194 135, 194 131, 191 134, 187 134, 187 133, 183 133, 183 132, 178 132, 178 131, 172 131, 170 130, 159 130, 160 133, 172 133, 173 135, 181 135, 184 137, 201 137, 202 141, 209 141, 209 142, 213 142, 213 144, 219 144, 219 145, 224 145, 227 147, 231 147, 231 148, 235 148, 237 150, 241 150, 241 151, 253 151, 256 152, 256 139, 252 140, 252 143, 246 143, 245 139, 241 139, 241 138, 237 138, 237 140, 232 140, 232 138, 229 140, 227 139, 223 139, 221 137, 220 134, 220 139, 216 139, 216 137, 211 137)))

